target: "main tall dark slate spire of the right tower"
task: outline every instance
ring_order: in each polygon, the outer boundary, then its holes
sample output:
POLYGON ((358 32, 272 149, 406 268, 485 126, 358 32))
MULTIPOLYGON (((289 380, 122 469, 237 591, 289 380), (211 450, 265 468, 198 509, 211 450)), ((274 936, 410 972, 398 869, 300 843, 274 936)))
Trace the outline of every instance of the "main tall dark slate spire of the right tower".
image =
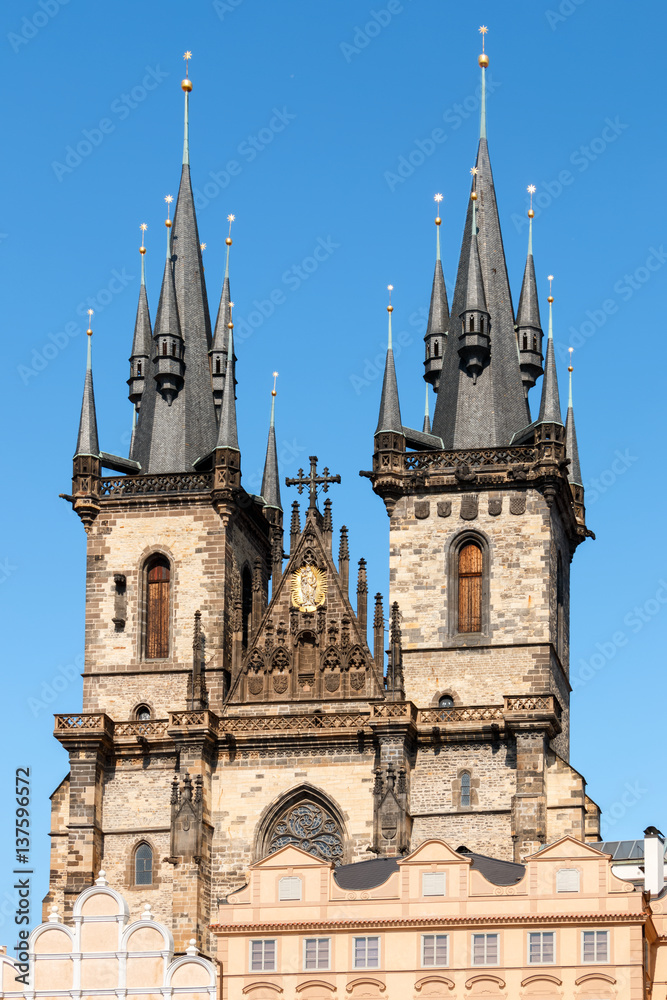
MULTIPOLYGON (((468 205, 451 315, 457 317, 469 304, 470 256, 476 251, 490 326, 490 353, 481 371, 467 371, 461 364, 458 331, 450 331, 445 344, 433 434, 450 448, 494 447, 509 444, 529 422, 528 404, 521 379, 514 329, 514 310, 503 249, 496 193, 486 140, 485 73, 488 56, 479 57, 482 69, 482 110, 476 175, 468 205), (473 211, 477 239, 473 240, 473 211), (475 381, 475 374, 477 375, 475 381)), ((474 262, 473 262, 474 263, 474 262)), ((476 264, 472 274, 476 274, 476 264)), ((450 322, 451 326, 451 322, 450 322)), ((475 331, 477 332, 477 331, 475 331)))

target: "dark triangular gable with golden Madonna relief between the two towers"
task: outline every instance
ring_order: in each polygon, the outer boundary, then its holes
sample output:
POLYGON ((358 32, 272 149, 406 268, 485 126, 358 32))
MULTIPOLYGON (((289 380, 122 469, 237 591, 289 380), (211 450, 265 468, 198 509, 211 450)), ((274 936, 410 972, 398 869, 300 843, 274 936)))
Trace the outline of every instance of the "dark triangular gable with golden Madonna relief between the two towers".
POLYGON ((232 681, 230 703, 385 697, 381 668, 332 558, 330 523, 328 509, 323 518, 311 506, 303 531, 293 534, 289 562, 232 681))

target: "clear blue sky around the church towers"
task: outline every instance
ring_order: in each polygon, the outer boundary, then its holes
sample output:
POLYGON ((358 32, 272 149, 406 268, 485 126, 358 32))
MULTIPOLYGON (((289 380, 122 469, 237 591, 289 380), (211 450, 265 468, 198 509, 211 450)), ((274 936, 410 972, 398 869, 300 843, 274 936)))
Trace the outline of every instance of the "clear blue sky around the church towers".
MULTIPOLYGON (((154 316, 163 198, 176 195, 180 175, 186 48, 212 310, 225 218, 237 217, 231 282, 244 482, 259 487, 277 369, 281 473, 293 475, 313 453, 341 473, 335 523, 350 529, 352 559, 368 559, 370 592, 386 594, 387 518, 358 476, 371 462, 386 286, 395 287, 403 416, 419 426, 433 195, 444 194, 451 297, 476 152, 477 28, 489 26, 489 148, 515 305, 534 183, 535 262, 543 308, 546 275, 556 276, 562 392, 567 347, 576 348, 597 540, 581 546, 573 566, 572 762, 606 811, 609 839, 641 836, 649 823, 664 828, 667 237, 659 192, 667 164, 655 53, 664 20, 664 8, 645 0, 3 5, 8 711, 0 781, 11 813, 14 772, 31 768, 36 919, 48 874, 48 796, 67 772, 52 713, 81 705, 84 533, 58 494, 70 485, 85 311, 95 309, 101 446, 126 454, 139 224, 148 224, 154 316), (304 270, 323 246, 317 268, 304 270)), ((13 855, 8 820, 0 836, 0 941, 8 944, 13 855)))

